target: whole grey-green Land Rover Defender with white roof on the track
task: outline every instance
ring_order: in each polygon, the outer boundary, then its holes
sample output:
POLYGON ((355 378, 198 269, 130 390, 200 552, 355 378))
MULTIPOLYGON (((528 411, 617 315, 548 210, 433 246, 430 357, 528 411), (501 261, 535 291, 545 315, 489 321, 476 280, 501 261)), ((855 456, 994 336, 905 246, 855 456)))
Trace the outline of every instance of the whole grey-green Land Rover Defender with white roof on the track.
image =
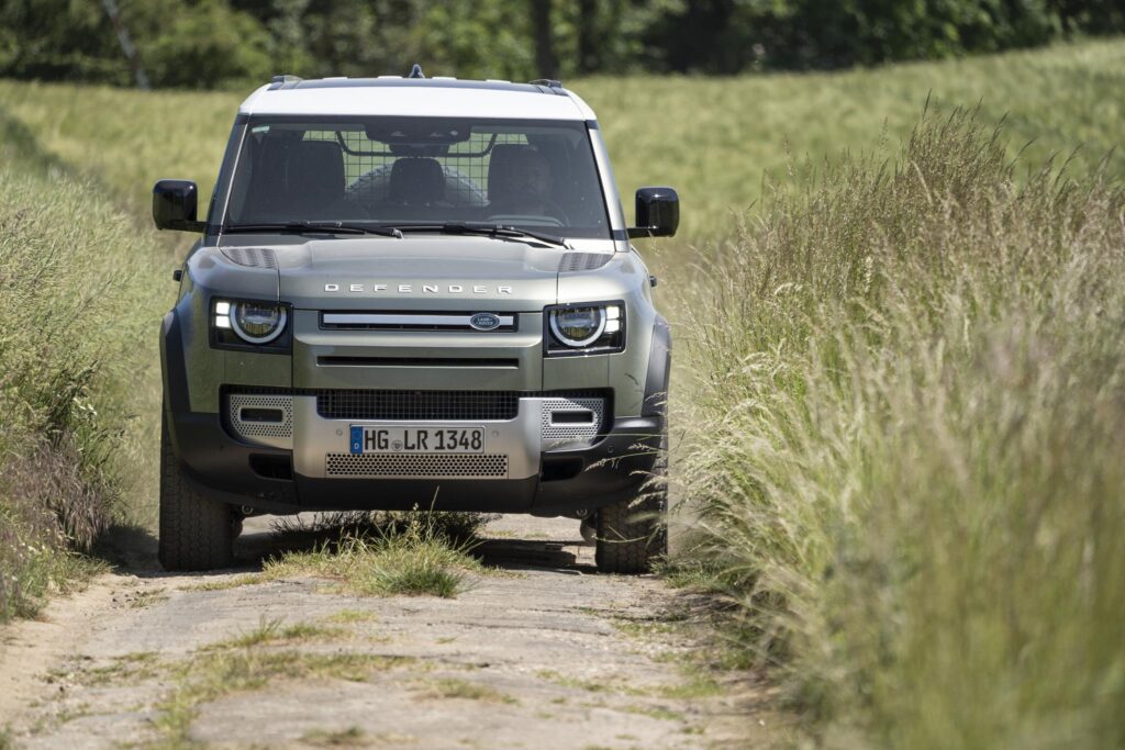
POLYGON ((670 334, 597 120, 557 81, 277 76, 234 121, 164 316, 160 560, 222 568, 245 515, 569 516, 603 571, 648 569, 670 334))

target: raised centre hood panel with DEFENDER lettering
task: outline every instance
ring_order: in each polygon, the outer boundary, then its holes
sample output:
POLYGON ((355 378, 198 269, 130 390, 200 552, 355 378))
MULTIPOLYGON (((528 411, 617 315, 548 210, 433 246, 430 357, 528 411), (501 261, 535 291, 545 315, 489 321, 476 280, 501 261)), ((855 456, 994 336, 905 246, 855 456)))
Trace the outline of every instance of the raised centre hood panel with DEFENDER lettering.
POLYGON ((560 247, 490 237, 356 237, 280 245, 280 298, 297 309, 529 311, 558 298, 560 247))

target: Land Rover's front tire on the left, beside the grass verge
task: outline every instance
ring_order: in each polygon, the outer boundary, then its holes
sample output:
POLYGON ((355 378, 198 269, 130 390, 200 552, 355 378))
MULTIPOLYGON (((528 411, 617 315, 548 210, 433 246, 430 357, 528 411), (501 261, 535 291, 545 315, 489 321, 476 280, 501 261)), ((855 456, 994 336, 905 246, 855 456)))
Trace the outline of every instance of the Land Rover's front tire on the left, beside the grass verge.
POLYGON ((234 515, 226 503, 200 495, 183 478, 163 417, 160 439, 160 564, 164 570, 231 566, 234 515))

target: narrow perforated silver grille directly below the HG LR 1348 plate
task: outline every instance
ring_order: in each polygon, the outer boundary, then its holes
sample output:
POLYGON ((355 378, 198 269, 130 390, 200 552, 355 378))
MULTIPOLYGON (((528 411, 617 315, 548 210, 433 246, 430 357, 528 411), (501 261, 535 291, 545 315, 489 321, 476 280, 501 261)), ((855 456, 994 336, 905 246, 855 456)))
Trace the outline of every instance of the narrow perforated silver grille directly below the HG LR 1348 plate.
POLYGON ((441 479, 477 479, 507 477, 507 457, 498 453, 328 453, 325 470, 328 477, 415 477, 441 479))

